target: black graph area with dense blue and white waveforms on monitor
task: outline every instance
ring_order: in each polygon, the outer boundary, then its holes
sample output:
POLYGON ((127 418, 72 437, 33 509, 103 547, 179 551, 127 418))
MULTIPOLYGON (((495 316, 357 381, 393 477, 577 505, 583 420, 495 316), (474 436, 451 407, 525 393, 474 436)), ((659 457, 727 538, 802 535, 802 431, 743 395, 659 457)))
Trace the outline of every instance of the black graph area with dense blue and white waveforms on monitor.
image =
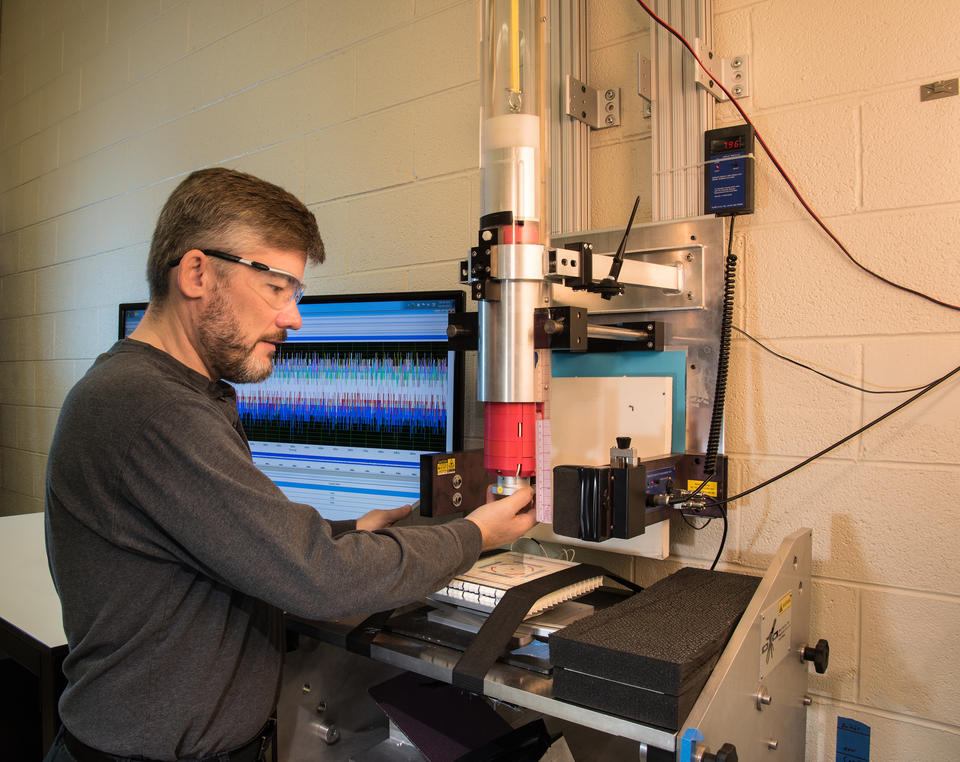
POLYGON ((254 441, 444 450, 448 372, 442 344, 282 345, 237 406, 254 441))

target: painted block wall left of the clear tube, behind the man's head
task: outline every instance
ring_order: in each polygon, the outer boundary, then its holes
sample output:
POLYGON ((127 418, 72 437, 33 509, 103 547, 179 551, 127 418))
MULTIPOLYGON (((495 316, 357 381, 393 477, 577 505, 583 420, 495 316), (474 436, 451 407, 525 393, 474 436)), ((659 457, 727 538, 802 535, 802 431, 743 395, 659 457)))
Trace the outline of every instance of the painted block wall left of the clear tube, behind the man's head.
POLYGON ((157 213, 192 169, 310 206, 311 293, 457 287, 479 216, 473 0, 2 8, 0 514, 42 510, 59 406, 117 304, 147 298, 157 213))

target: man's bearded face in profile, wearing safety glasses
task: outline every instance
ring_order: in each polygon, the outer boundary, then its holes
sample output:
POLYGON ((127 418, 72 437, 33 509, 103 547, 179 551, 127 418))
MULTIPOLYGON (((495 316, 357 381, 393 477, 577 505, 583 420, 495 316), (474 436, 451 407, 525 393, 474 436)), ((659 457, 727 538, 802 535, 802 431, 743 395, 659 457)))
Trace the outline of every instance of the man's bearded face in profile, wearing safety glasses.
MULTIPOLYGON (((303 278, 306 258, 299 252, 258 246, 230 253, 303 278)), ((275 284, 271 273, 232 262, 219 265, 219 271, 197 326, 200 357, 212 378, 258 383, 273 372, 287 329, 301 326, 300 313, 293 301, 278 308, 265 296, 275 284)))

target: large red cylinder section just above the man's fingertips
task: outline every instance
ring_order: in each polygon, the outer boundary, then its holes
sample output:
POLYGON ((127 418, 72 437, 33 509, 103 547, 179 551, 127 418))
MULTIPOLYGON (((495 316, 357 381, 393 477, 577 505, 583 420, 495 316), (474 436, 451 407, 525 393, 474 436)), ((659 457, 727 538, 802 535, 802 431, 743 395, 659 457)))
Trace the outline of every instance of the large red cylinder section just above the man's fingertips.
POLYGON ((533 476, 537 471, 537 403, 488 402, 483 422, 486 469, 500 476, 533 476))

